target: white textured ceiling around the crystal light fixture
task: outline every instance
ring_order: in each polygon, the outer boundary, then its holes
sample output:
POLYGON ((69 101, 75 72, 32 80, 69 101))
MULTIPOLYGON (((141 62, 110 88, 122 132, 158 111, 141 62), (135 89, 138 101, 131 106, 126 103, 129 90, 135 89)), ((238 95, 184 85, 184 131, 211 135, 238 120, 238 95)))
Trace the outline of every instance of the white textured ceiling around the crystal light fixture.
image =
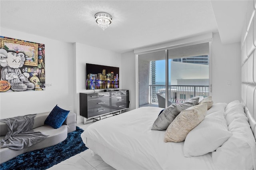
POLYGON ((218 32, 210 0, 1 0, 0 8, 1 27, 118 53, 218 32), (104 31, 97 12, 112 15, 104 31))

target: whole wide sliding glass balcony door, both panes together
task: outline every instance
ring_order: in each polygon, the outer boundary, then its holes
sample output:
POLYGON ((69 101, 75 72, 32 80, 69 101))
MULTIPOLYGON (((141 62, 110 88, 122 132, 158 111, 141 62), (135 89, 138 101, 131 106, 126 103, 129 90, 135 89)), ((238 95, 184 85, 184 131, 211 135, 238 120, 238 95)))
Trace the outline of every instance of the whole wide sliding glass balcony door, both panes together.
POLYGON ((209 96, 209 42, 138 55, 139 107, 209 96))

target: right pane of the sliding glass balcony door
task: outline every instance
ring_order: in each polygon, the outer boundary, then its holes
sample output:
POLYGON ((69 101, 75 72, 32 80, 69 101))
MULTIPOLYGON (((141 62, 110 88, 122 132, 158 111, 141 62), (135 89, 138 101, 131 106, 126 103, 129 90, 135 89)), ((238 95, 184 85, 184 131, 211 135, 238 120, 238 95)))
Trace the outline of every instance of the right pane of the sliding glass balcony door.
POLYGON ((168 49, 168 60, 168 99, 172 103, 209 96, 209 43, 168 49))

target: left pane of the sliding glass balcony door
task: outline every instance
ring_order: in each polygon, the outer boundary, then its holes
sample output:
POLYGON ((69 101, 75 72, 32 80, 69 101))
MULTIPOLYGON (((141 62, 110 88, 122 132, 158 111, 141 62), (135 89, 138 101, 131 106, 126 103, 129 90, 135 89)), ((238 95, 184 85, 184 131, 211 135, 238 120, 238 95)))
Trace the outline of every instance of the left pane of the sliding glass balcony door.
POLYGON ((165 51, 139 55, 138 72, 139 107, 158 107, 158 93, 165 91, 165 51))

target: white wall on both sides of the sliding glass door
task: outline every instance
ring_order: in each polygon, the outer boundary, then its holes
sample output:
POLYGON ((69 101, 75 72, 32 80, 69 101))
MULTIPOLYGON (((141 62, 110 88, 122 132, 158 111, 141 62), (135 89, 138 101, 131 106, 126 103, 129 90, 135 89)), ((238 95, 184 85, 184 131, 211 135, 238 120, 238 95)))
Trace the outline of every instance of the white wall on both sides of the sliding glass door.
MULTIPOLYGON (((240 100, 240 43, 222 44, 218 33, 212 38, 212 99, 214 103, 229 103, 240 100), (231 81, 231 86, 227 86, 231 81)), ((136 108, 136 55, 132 52, 122 54, 122 70, 130 73, 129 81, 122 83, 130 89, 130 109, 136 108), (130 71, 130 72, 129 72, 130 71)), ((127 87, 127 88, 126 88, 127 87)))

